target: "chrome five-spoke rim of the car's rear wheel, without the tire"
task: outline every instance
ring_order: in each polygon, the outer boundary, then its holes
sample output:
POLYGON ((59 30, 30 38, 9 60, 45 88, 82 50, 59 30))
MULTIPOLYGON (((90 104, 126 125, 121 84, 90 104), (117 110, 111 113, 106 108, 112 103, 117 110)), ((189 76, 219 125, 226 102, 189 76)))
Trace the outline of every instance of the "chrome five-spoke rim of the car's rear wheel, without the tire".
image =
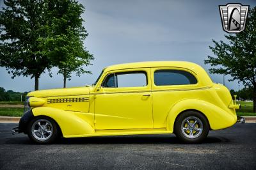
POLYGON ((182 121, 181 132, 185 137, 188 137, 189 139, 195 139, 202 134, 203 123, 199 118, 195 116, 189 116, 182 121))

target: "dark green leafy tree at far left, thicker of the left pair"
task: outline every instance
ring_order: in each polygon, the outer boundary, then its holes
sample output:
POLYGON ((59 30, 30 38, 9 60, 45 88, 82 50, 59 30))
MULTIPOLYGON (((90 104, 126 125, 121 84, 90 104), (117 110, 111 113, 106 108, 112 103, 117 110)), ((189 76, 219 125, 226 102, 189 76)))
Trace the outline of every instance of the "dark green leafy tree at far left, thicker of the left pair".
POLYGON ((0 66, 15 76, 38 79, 51 62, 45 56, 40 39, 47 36, 45 25, 45 3, 43 0, 6 0, 0 11, 0 66))

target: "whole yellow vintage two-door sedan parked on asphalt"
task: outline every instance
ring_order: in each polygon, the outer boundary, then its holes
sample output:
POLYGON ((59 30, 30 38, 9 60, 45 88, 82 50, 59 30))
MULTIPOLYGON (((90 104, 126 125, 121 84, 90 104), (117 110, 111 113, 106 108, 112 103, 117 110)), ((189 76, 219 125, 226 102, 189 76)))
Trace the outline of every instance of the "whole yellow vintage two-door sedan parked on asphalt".
POLYGON ((58 137, 172 134, 200 143, 209 130, 244 121, 228 89, 205 70, 185 61, 108 66, 92 86, 28 93, 13 134, 36 143, 58 137))

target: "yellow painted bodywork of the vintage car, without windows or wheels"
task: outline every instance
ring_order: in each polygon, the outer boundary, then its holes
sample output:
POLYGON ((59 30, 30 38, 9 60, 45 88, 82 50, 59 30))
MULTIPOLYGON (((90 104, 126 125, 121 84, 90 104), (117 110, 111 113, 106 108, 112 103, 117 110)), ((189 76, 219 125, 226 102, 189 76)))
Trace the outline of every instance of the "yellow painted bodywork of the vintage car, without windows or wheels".
POLYGON ((43 107, 33 106, 36 107, 33 114, 54 119, 64 137, 170 134, 177 116, 187 110, 202 112, 211 129, 217 130, 234 125, 239 108, 225 86, 213 83, 201 66, 184 61, 113 65, 104 68, 95 86, 33 91, 28 96, 45 101, 43 107), (198 82, 156 86, 154 72, 159 69, 184 70, 192 73, 198 82), (147 86, 101 87, 109 73, 127 71, 146 72, 147 86))

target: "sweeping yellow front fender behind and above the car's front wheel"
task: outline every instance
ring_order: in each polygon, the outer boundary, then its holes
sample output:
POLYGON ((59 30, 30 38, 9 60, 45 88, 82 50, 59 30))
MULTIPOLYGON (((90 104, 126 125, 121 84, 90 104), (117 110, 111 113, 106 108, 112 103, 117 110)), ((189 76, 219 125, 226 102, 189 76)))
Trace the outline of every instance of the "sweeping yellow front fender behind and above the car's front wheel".
POLYGON ((82 118, 72 112, 55 109, 52 107, 36 107, 32 109, 34 116, 48 116, 55 120, 61 128, 63 137, 93 134, 93 127, 82 118))

